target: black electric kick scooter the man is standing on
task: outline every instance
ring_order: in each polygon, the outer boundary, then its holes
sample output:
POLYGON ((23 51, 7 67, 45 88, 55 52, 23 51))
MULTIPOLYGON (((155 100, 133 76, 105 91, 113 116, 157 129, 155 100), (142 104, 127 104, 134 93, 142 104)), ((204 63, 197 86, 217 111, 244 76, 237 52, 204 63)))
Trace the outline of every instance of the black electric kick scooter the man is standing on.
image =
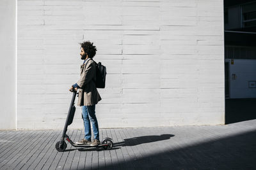
POLYGON ((111 138, 102 139, 102 141, 100 142, 100 145, 98 145, 98 146, 90 146, 90 144, 77 145, 66 134, 68 125, 72 124, 73 118, 74 118, 74 115, 76 112, 76 107, 74 106, 74 104, 75 104, 74 102, 76 99, 77 92, 76 92, 76 90, 73 90, 72 92, 73 92, 73 96, 72 96, 72 100, 71 100, 70 107, 68 110, 67 120, 66 120, 64 129, 63 129, 61 139, 55 145, 56 150, 58 150, 58 152, 65 151, 65 149, 67 148, 67 143, 64 141, 64 139, 66 139, 74 147, 84 147, 84 148, 86 148, 86 147, 97 147, 97 148, 102 147, 104 150, 110 150, 113 147, 113 140, 111 138))

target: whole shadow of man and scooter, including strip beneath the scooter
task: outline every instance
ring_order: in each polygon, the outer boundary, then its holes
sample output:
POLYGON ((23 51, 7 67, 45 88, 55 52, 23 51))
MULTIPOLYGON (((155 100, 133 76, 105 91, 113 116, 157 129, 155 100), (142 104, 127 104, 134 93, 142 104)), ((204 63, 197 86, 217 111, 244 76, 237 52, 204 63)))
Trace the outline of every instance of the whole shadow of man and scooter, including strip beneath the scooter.
MULTIPOLYGON (((174 136, 173 134, 161 134, 159 136, 150 135, 150 136, 138 136, 134 138, 128 138, 128 139, 124 139, 124 141, 122 142, 113 143, 113 148, 111 148, 111 150, 119 149, 120 146, 135 146, 143 143, 163 141, 163 140, 170 139, 173 136, 174 136)), ((103 148, 79 148, 78 150, 79 151, 93 151, 93 150, 100 151, 100 150, 103 150, 103 148)), ((67 150, 67 151, 70 151, 70 150, 67 150)))

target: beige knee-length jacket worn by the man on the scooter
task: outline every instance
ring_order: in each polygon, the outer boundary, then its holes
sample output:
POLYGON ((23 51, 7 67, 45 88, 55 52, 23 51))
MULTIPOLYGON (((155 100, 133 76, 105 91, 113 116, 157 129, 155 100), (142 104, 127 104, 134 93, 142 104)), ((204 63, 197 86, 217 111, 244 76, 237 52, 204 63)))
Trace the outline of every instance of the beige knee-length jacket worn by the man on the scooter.
POLYGON ((96 80, 95 69, 96 65, 92 59, 87 59, 86 62, 81 65, 81 78, 77 81, 77 85, 81 87, 78 92, 77 106, 92 106, 101 100, 95 82, 93 81, 96 80))

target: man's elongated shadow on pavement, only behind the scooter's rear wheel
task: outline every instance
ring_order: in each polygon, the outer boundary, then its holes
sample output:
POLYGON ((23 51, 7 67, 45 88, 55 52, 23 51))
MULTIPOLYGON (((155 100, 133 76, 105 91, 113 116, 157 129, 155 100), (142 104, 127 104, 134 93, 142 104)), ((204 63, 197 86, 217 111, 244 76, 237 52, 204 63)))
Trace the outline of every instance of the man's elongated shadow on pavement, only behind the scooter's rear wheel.
POLYGON ((128 138, 124 139, 122 142, 118 143, 113 143, 113 146, 135 146, 135 145, 140 145, 142 143, 151 143, 155 141, 163 141, 166 139, 170 139, 173 137, 173 134, 161 134, 159 136, 157 135, 151 135, 151 136, 138 136, 134 138, 128 138))

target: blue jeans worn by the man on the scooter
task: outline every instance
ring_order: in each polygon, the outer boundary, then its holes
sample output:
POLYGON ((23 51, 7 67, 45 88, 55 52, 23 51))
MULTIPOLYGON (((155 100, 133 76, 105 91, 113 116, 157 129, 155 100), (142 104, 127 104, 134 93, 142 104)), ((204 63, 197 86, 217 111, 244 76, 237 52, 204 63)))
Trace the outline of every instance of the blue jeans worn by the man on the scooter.
POLYGON ((95 104, 92 106, 82 106, 82 115, 84 120, 84 139, 91 141, 91 122, 94 139, 99 140, 99 126, 95 115, 95 104))

